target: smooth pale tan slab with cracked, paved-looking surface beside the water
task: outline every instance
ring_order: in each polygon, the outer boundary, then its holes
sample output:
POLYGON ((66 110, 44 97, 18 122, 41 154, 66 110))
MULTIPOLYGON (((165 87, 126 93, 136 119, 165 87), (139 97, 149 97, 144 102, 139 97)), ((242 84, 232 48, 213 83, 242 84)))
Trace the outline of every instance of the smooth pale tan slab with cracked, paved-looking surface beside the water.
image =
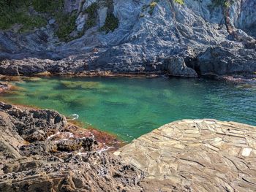
POLYGON ((114 153, 145 172, 145 191, 256 191, 256 127, 180 120, 114 153))

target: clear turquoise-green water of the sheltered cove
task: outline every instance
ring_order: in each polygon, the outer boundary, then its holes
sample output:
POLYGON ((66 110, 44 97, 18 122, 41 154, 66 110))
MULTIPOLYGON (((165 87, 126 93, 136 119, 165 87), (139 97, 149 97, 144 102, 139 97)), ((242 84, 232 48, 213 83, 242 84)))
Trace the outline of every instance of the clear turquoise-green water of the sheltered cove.
POLYGON ((1 95, 15 104, 78 114, 78 120, 131 141, 184 118, 235 120, 256 126, 256 88, 214 80, 44 77, 15 82, 1 95))

